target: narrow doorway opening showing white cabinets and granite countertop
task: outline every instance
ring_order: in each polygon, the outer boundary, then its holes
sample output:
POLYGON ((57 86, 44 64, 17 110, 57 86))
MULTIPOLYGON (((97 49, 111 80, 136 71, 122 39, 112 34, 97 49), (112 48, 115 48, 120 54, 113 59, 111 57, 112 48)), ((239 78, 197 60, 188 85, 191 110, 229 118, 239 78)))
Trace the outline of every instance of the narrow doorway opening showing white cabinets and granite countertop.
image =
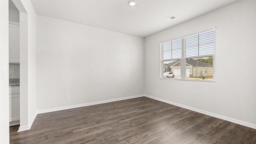
POLYGON ((9 125, 20 124, 20 12, 9 0, 9 125))

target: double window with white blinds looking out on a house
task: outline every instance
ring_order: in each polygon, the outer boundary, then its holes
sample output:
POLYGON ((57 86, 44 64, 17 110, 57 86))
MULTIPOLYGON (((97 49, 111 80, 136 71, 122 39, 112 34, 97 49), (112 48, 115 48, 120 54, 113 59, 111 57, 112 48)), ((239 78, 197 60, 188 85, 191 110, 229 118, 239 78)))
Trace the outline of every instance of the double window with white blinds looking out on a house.
POLYGON ((160 78, 213 82, 214 50, 215 30, 161 43, 160 78))

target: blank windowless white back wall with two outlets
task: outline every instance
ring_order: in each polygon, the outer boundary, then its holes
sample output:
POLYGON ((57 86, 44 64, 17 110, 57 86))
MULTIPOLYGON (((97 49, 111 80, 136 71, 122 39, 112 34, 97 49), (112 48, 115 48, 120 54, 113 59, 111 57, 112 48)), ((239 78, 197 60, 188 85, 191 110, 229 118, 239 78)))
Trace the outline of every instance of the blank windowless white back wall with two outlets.
POLYGON ((36 31, 38 110, 144 93, 144 38, 41 15, 36 31))

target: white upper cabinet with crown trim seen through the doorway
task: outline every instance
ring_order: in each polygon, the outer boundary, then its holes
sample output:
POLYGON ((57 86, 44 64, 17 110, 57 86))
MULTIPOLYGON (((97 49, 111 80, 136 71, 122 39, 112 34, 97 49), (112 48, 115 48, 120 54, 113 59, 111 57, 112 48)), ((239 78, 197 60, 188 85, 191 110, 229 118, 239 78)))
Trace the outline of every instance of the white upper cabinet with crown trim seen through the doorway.
POLYGON ((20 62, 20 24, 9 22, 9 62, 20 62))

